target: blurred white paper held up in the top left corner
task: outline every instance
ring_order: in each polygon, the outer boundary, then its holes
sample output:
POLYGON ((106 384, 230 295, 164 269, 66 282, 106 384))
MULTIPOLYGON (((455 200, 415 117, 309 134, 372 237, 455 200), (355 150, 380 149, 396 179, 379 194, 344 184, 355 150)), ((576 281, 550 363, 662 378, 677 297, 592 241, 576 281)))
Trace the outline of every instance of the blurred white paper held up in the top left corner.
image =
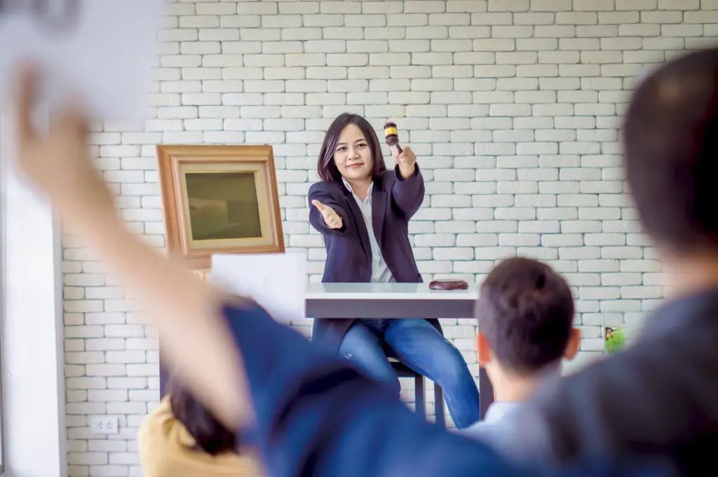
POLYGON ((42 76, 40 101, 79 98, 90 119, 144 119, 163 0, 0 1, 0 100, 19 61, 42 76))

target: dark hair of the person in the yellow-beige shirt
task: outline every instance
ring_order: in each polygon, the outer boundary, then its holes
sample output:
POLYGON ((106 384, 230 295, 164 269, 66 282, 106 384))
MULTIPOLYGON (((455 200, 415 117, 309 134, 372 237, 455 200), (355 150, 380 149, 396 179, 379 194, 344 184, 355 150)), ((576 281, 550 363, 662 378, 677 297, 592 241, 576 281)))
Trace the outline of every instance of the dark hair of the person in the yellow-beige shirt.
POLYGON ((236 451, 236 434, 220 424, 207 408, 192 397, 180 381, 171 379, 167 391, 172 414, 195 439, 195 450, 202 450, 210 455, 236 451))

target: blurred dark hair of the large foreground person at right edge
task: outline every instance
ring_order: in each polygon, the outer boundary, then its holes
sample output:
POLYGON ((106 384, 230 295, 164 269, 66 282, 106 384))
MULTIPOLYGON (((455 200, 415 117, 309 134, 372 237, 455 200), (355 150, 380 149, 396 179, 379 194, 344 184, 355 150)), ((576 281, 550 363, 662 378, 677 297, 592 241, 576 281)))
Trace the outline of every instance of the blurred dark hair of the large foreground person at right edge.
POLYGON ((646 233, 673 254, 718 246, 718 50, 690 52, 643 78, 623 139, 646 233))

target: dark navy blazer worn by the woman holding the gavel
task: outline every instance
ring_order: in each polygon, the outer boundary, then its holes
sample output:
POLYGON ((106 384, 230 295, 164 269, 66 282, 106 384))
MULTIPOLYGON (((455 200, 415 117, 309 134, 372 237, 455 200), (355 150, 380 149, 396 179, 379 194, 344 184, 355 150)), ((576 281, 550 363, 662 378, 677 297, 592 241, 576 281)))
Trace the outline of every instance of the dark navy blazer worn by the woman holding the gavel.
MULTIPOLYGON (((422 282, 409 243, 409 219, 424 201, 424 177, 416 172, 402 179, 398 166, 374 180, 371 193, 372 225, 386 265, 396 282, 422 282)), ((327 249, 324 283, 370 282, 371 247, 361 210, 343 182, 317 182, 309 187, 309 223, 324 236, 327 249), (329 205, 342 218, 342 228, 328 228, 312 200, 329 205)), ((388 316, 386 318, 391 318, 388 316)), ((439 320, 429 319, 439 333, 439 320)), ((338 349, 354 320, 317 318, 312 339, 338 349)))

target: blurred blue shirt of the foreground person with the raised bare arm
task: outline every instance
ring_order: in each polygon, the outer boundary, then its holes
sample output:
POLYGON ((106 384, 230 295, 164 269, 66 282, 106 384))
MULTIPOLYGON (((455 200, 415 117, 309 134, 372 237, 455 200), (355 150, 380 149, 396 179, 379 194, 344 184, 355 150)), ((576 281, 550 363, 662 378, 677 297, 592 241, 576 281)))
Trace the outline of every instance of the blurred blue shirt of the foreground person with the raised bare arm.
MULTIPOLYGON (((426 422, 388 386, 256 305, 223 309, 243 356, 256 425, 240 430, 272 477, 668 476, 656 466, 587 462, 519 469, 488 446, 426 422), (574 471, 574 472, 572 472, 574 471)), ((648 465, 648 464, 646 464, 648 465)))

